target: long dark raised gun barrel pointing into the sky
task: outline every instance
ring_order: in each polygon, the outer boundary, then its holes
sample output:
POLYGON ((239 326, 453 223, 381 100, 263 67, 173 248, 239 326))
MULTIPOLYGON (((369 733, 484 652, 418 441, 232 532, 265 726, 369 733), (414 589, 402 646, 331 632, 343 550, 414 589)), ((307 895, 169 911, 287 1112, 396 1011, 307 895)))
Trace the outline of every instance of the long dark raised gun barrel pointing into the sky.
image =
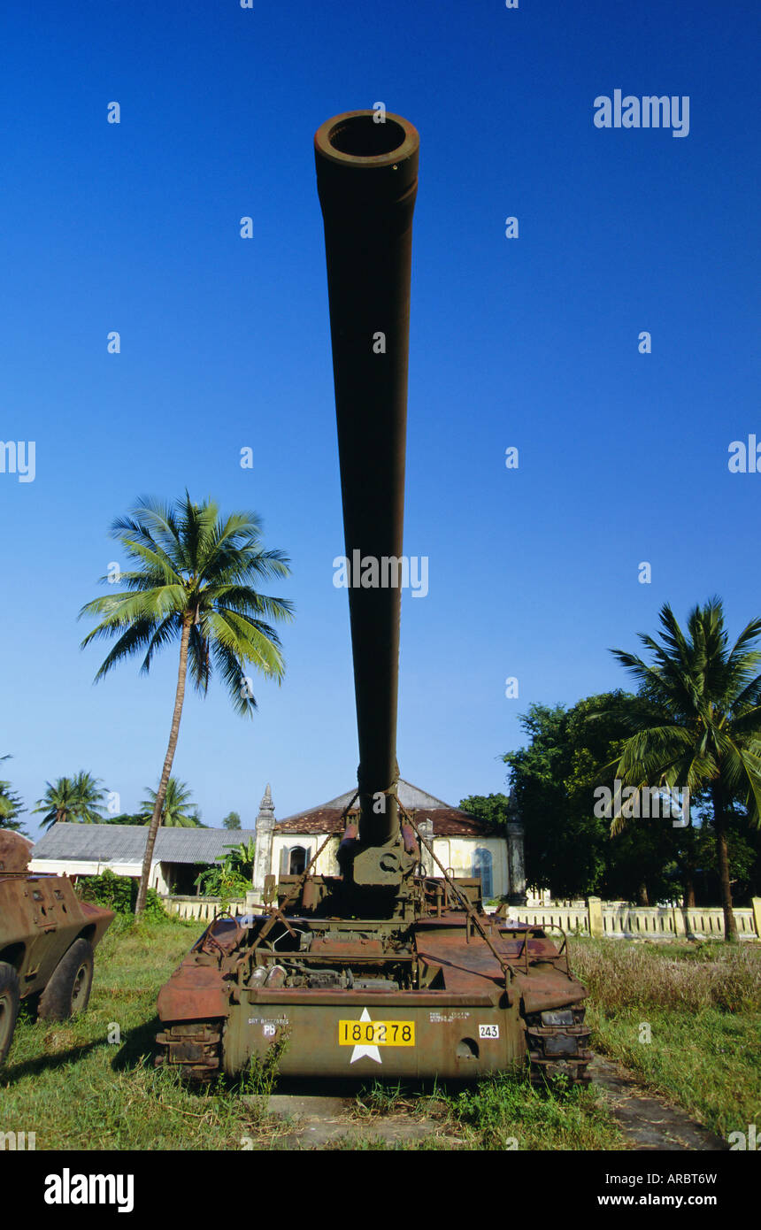
MULTIPOLYGON (((400 831, 396 784, 407 358, 417 130, 373 111, 315 134, 359 734, 359 843, 400 831), (364 583, 363 583, 364 582, 364 583), (374 808, 374 797, 376 806, 374 808)), ((390 863, 388 863, 390 867, 390 863)))

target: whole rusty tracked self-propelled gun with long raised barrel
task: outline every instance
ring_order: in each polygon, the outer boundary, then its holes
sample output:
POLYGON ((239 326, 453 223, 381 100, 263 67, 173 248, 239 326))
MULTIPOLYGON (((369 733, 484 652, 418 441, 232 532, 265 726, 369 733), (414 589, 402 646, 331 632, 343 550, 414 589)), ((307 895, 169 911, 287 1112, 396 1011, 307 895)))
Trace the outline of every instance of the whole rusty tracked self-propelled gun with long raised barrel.
MULTIPOLYGON (((269 877, 267 905, 218 918, 159 995, 159 1064, 204 1080, 278 1046, 283 1075, 584 1080, 585 988, 568 943, 483 911, 397 798, 412 214, 418 133, 370 111, 315 137, 325 220, 359 770, 337 875, 269 877), (365 573, 365 569, 366 573, 365 573), (398 576, 398 572, 397 572, 398 576), (433 873, 432 873, 433 871, 433 873)), ((331 836, 327 839, 331 840, 331 836)), ((326 845, 327 843, 323 843, 326 845)))

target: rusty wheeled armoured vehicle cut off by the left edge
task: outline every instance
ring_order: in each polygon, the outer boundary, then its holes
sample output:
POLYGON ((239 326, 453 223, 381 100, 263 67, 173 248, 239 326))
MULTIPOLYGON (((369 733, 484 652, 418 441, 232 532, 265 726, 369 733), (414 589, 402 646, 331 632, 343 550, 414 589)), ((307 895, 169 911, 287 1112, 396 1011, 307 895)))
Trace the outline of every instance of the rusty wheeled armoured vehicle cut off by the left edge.
POLYGON ((26 839, 0 829, 0 1064, 22 999, 37 996, 37 1015, 50 1021, 84 1012, 93 948, 113 921, 80 902, 68 876, 27 871, 28 859, 26 839))

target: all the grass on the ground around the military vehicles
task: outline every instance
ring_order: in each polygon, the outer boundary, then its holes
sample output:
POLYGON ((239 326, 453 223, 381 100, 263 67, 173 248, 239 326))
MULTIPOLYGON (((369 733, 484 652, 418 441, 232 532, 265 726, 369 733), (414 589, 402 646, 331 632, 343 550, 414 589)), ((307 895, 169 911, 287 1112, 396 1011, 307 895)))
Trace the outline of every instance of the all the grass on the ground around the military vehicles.
MULTIPOLYGON (((198 931, 177 919, 117 918, 96 951, 87 1012, 36 1022, 22 1006, 0 1071, 0 1130, 34 1132, 37 1148, 52 1150, 284 1146, 293 1125, 266 1114, 274 1064, 202 1092, 152 1066, 159 988, 198 931)), ((723 1137, 760 1122, 761 948, 582 940, 573 957, 591 993, 595 1049, 723 1137), (649 1043, 639 1041, 642 1025, 649 1043)), ((595 1089, 537 1091, 522 1077, 423 1091, 375 1082, 353 1119, 359 1135, 327 1148, 625 1148, 595 1089), (430 1123, 430 1137, 379 1141, 374 1122, 387 1114, 430 1123)))

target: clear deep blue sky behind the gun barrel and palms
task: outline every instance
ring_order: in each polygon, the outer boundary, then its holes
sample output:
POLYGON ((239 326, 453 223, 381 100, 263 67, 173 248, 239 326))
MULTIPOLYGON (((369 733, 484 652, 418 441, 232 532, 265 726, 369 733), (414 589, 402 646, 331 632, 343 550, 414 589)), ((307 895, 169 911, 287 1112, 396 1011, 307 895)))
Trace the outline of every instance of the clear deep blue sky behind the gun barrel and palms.
POLYGON ((376 101, 420 133, 404 550, 429 593, 402 603, 402 775, 499 791, 518 715, 625 685, 607 648, 663 601, 719 593, 733 632, 760 614, 761 475, 728 470, 761 440, 760 25, 682 0, 6 14, 0 438, 34 440, 36 475, 0 474, 0 753, 28 807, 80 768, 125 811, 157 781, 176 653, 92 686, 76 614, 119 562, 111 520, 186 487, 263 517, 298 614, 253 721, 189 696, 176 774, 210 824, 252 823, 267 781, 283 817, 354 780, 312 135, 376 101), (616 89, 688 96, 688 135, 596 128, 616 89))

